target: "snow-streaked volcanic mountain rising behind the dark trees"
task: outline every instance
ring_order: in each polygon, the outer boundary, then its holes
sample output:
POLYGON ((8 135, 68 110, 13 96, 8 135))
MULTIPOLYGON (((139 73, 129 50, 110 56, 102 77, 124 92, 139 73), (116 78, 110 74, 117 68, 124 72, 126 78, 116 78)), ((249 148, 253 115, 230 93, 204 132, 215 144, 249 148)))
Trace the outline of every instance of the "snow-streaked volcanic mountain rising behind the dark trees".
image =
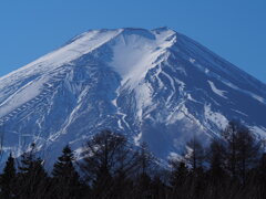
POLYGON ((235 118, 266 137, 266 85, 168 28, 91 30, 0 78, 6 155, 35 143, 54 160, 111 129, 166 160, 235 118))

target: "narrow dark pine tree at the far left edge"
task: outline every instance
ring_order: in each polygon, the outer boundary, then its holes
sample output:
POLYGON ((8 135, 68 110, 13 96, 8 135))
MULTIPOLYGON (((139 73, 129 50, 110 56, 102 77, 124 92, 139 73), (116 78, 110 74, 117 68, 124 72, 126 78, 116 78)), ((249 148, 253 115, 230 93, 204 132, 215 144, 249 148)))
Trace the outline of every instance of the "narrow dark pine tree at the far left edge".
POLYGON ((1 197, 2 199, 10 199, 14 197, 14 180, 16 180, 16 168, 14 168, 14 158, 10 153, 9 158, 3 168, 3 174, 1 175, 1 197))

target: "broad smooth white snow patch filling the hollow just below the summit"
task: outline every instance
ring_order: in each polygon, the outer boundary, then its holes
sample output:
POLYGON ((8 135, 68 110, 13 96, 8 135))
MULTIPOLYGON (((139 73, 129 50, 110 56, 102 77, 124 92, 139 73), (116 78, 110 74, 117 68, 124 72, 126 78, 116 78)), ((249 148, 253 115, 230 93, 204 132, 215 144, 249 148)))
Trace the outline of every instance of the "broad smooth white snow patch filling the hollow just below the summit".
POLYGON ((153 36, 122 33, 115 39, 110 66, 122 76, 122 84, 135 87, 150 69, 166 60, 166 50, 176 41, 173 31, 151 31, 150 34, 153 36))

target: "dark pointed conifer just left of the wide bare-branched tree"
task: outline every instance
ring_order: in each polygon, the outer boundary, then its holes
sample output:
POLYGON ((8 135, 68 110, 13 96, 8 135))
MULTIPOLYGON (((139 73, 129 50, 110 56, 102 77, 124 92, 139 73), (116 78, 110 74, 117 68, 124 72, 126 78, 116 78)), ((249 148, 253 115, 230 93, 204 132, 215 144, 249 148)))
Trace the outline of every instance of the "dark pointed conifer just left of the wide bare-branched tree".
POLYGON ((74 155, 69 145, 63 150, 63 155, 58 158, 53 166, 54 198, 73 199, 81 193, 79 174, 73 166, 74 155))

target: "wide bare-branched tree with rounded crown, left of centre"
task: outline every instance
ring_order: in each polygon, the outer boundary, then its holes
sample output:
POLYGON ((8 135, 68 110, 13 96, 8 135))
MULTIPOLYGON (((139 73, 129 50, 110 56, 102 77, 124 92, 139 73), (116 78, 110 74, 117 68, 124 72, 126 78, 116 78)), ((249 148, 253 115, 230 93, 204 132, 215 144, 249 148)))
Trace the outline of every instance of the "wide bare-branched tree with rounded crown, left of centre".
POLYGON ((123 135, 103 130, 92 137, 83 147, 80 164, 86 179, 92 184, 95 198, 116 195, 114 178, 124 180, 137 168, 137 153, 123 135))

